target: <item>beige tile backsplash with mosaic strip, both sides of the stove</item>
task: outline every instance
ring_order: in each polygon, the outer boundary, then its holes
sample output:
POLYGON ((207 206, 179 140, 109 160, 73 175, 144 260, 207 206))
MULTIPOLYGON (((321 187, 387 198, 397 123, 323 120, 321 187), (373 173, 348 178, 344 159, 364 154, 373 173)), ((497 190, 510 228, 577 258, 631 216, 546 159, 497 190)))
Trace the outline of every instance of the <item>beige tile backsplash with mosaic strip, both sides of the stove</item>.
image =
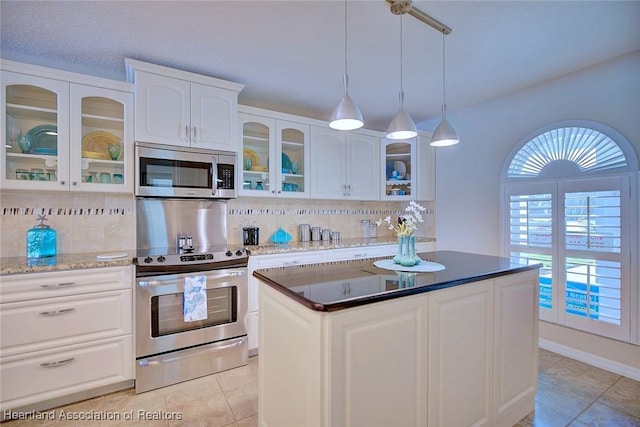
MULTIPOLYGON (((427 209, 416 234, 434 235, 434 202, 427 209)), ((360 202, 348 200, 269 199, 241 197, 228 203, 228 241, 242 244, 243 227, 259 227, 260 243, 282 228, 299 240, 299 225, 310 224, 342 233, 343 239, 362 236, 361 221, 401 214, 407 202, 360 202)), ((46 224, 58 232, 58 253, 114 252, 135 249, 135 197, 132 195, 0 192, 0 257, 25 256, 27 230, 46 214, 46 224)), ((378 227, 378 236, 392 231, 378 227)))

